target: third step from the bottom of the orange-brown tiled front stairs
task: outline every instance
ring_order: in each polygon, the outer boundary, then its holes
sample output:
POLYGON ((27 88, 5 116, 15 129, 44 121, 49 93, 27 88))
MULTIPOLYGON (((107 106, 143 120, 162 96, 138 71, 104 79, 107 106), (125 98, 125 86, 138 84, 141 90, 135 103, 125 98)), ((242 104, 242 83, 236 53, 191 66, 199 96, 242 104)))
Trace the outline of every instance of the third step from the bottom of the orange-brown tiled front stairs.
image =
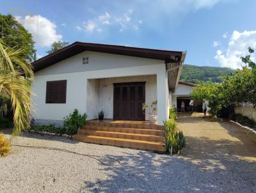
POLYGON ((104 132, 124 132, 131 134, 148 134, 148 135, 157 135, 164 137, 164 130, 156 129, 145 129, 145 128, 122 128, 122 127, 96 127, 88 126, 82 128, 82 130, 99 130, 104 132))

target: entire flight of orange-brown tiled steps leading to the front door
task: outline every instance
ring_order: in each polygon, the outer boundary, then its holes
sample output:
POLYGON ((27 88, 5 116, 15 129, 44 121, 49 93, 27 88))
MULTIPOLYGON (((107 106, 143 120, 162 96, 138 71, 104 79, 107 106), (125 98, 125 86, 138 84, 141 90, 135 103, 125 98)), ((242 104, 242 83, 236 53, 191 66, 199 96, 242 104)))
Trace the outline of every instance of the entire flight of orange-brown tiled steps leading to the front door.
POLYGON ((164 151, 164 127, 149 121, 90 120, 73 139, 86 143, 164 151))

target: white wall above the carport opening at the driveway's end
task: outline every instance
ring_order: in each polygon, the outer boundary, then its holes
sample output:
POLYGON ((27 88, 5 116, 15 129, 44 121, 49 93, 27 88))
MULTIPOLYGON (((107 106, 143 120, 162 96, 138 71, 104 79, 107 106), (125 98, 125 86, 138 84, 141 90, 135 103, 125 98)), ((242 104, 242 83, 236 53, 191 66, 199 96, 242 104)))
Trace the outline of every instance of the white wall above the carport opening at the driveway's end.
POLYGON ((172 97, 172 106, 177 107, 177 97, 181 96, 190 96, 190 93, 193 91, 193 86, 188 86, 184 84, 178 84, 175 92, 171 95, 172 97))

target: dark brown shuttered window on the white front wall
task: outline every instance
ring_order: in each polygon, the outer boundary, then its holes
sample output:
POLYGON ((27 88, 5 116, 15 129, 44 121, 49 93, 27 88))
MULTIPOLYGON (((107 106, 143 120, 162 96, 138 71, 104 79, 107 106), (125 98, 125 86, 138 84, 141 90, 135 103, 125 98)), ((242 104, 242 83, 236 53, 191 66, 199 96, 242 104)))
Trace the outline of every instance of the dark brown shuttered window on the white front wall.
POLYGON ((45 103, 65 104, 67 95, 67 80, 47 81, 45 103))

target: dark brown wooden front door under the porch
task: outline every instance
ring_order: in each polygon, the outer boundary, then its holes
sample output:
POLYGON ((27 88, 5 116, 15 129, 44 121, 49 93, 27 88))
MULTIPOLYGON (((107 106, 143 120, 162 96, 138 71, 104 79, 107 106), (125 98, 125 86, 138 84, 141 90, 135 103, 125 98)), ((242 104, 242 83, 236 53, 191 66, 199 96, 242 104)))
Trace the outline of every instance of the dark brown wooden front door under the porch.
POLYGON ((114 84, 114 119, 144 121, 145 82, 114 84))

